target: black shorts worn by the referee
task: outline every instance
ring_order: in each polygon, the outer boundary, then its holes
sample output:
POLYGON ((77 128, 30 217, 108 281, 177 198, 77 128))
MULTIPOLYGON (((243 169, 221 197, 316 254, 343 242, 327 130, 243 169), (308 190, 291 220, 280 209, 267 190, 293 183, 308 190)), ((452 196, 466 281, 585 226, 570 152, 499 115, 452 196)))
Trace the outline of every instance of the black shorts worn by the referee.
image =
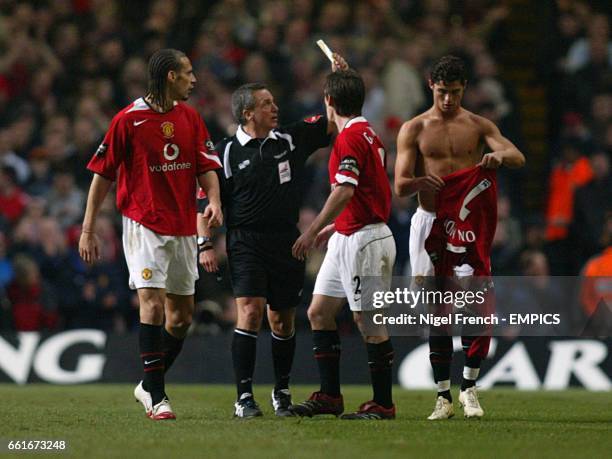
POLYGON ((230 229, 227 258, 234 297, 264 297, 275 311, 296 307, 302 298, 305 263, 291 255, 300 236, 289 232, 230 229))

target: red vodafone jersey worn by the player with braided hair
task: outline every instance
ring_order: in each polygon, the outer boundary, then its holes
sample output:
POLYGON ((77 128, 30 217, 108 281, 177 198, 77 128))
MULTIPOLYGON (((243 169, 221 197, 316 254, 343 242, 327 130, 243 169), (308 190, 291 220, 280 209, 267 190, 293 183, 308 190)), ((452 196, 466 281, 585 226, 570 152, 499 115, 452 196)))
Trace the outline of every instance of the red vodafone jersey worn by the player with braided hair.
POLYGON ((196 234, 196 177, 221 162, 200 115, 183 103, 167 113, 140 98, 112 120, 87 168, 117 180, 117 208, 158 234, 196 234))

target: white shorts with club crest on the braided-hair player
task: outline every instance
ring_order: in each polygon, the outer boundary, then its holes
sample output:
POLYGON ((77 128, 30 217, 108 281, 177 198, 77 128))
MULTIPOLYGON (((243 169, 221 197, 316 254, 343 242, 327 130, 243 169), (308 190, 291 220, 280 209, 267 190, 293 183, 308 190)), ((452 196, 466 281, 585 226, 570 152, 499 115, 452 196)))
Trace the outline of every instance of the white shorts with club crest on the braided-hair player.
POLYGON ((194 236, 163 236, 123 216, 123 251, 130 288, 165 288, 166 293, 193 295, 198 279, 194 236))

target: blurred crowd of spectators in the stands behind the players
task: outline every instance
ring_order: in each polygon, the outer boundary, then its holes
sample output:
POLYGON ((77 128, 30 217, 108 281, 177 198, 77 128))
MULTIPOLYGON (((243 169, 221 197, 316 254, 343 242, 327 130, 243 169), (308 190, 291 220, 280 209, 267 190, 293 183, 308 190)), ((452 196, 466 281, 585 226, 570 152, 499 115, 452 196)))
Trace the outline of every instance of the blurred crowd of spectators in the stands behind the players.
MULTIPOLYGON (((523 176, 500 170, 498 275, 575 276, 612 244, 605 223, 612 211, 610 16, 583 2, 551 3, 554 33, 539 59, 549 90, 547 206, 527 212, 523 176)), ((198 82, 189 103, 216 142, 237 127, 230 95, 245 82, 269 85, 281 124, 323 113, 329 63, 314 42, 325 39, 364 78, 363 114, 387 147, 392 179, 398 129, 431 105, 429 66, 448 53, 468 63, 463 105, 493 120, 529 165, 515 88, 498 70, 510 13, 488 0, 0 0, 0 329, 124 332, 137 325, 112 196, 97 222, 100 262, 86 266, 77 243, 91 180, 86 164, 112 116, 146 94, 146 63, 156 49, 190 57, 198 82)), ((302 228, 329 192, 328 155, 320 150, 309 163, 302 228)), ((410 274, 415 208, 413 197, 394 196, 397 275, 410 274)), ((223 246, 221 233, 215 247, 225 265, 223 246)), ((305 291, 322 256, 309 258, 305 291)), ((234 320, 227 278, 222 270, 198 282, 202 332, 234 320)), ((304 324, 303 311, 299 317, 304 324)))

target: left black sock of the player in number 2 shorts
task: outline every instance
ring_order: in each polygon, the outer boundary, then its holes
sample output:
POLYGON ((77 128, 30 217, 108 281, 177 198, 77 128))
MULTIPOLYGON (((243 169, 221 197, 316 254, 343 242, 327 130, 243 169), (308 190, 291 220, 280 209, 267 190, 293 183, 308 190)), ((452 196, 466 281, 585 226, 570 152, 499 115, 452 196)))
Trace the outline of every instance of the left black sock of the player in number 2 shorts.
POLYGON ((313 330, 314 354, 321 377, 321 392, 340 395, 340 336, 337 330, 313 330))

